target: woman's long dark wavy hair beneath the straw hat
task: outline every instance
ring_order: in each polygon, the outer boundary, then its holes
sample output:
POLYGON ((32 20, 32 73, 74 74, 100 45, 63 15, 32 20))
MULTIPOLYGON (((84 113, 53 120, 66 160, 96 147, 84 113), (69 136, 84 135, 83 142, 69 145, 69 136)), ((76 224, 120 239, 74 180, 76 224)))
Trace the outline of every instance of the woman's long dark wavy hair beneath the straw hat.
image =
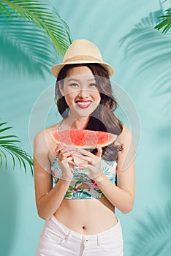
MULTIPOLYGON (((66 78, 69 69, 80 66, 91 69, 96 80, 97 89, 101 96, 98 107, 93 113, 91 113, 86 129, 120 135, 123 129, 123 124, 114 114, 114 111, 117 108, 117 102, 113 96, 112 86, 107 70, 99 64, 69 64, 65 65, 61 69, 56 80, 55 89, 55 99, 59 113, 63 118, 69 116, 69 106, 59 90, 58 81, 60 80, 60 83, 64 82, 64 78, 66 78)), ((112 143, 109 146, 102 148, 102 157, 108 161, 115 161, 118 157, 118 151, 121 150, 122 145, 115 145, 115 143, 112 143)), ((92 152, 95 154, 96 149, 92 152)))

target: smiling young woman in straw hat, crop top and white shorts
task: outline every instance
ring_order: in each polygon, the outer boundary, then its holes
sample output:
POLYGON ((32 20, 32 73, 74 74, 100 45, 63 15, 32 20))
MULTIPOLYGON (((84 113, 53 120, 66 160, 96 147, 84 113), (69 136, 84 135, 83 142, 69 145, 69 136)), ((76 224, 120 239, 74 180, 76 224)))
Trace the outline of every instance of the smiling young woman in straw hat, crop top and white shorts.
POLYGON ((115 207, 126 214, 134 205, 134 143, 132 132, 113 113, 113 68, 103 62, 96 45, 80 39, 52 72, 62 120, 34 138, 37 211, 45 219, 37 256, 121 256, 115 207), (50 138, 56 129, 99 130, 117 140, 93 151, 66 148, 50 138))

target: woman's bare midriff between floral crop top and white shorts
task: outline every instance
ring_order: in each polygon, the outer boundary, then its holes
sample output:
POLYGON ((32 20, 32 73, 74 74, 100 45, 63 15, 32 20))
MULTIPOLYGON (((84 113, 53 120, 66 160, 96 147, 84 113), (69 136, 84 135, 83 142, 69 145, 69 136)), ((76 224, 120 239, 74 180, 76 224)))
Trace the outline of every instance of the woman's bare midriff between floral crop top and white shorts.
POLYGON ((86 235, 101 233, 117 223, 107 198, 64 199, 54 216, 70 230, 86 235))

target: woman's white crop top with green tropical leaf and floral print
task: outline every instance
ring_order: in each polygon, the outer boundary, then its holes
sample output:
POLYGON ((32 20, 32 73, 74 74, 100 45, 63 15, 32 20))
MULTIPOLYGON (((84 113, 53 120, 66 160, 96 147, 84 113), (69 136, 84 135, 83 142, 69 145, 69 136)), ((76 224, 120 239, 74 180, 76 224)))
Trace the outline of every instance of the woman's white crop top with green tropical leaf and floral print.
MULTIPOLYGON (((59 124, 58 129, 61 129, 62 121, 59 124)), ((104 173, 113 184, 116 184, 116 161, 107 161, 105 159, 101 159, 101 168, 102 173, 104 173)), ((58 165, 58 156, 53 160, 51 166, 51 173, 53 175, 54 184, 58 182, 58 180, 62 176, 61 169, 58 165)), ((104 198, 104 194, 99 189, 98 185, 94 180, 90 178, 90 171, 88 168, 81 168, 75 165, 75 173, 72 178, 72 181, 69 184, 69 189, 67 190, 64 198, 65 199, 92 199, 92 198, 104 198), (80 189, 82 184, 87 184, 88 189, 80 189)))

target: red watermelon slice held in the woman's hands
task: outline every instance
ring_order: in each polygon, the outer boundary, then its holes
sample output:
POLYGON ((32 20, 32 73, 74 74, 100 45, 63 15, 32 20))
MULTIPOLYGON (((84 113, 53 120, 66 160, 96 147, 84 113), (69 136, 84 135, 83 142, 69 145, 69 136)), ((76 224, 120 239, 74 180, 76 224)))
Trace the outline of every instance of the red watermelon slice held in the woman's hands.
POLYGON ((88 129, 70 129, 50 132, 50 137, 55 143, 63 143, 66 146, 76 146, 77 148, 96 148, 113 143, 117 135, 108 132, 91 131, 88 129))

